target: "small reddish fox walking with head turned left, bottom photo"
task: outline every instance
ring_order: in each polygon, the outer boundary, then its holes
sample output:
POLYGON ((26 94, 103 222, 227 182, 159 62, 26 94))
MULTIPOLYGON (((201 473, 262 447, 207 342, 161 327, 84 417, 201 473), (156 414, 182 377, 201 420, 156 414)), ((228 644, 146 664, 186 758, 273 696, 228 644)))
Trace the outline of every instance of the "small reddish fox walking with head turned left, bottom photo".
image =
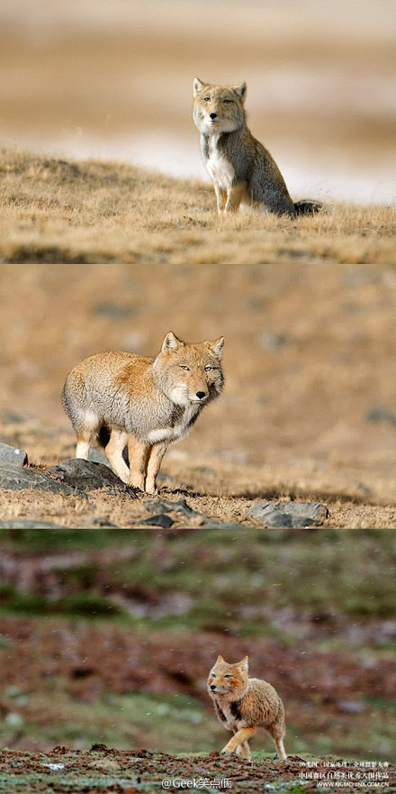
POLYGON ((256 734, 258 727, 266 728, 273 737, 281 761, 284 752, 284 704, 271 684, 247 675, 247 656, 242 662, 229 664, 219 656, 208 679, 208 692, 220 723, 234 732, 221 753, 236 751, 241 758, 250 760, 247 740, 256 734))

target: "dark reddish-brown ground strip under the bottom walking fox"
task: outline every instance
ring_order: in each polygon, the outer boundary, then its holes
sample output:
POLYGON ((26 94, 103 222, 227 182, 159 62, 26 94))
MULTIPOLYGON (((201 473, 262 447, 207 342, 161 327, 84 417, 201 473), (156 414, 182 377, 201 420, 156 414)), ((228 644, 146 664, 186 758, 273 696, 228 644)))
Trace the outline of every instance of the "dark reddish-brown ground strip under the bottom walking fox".
MULTIPOLYGON (((12 783, 15 794, 56 791, 58 794, 84 791, 85 794, 104 794, 107 791, 156 794, 158 790, 177 791, 181 783, 190 783, 190 790, 223 791, 245 794, 248 791, 271 789, 278 792, 329 791, 331 782, 343 780, 347 789, 378 792, 382 780, 385 791, 396 791, 396 767, 387 764, 373 770, 354 762, 329 757, 310 758, 291 756, 284 763, 269 758, 241 762, 224 759, 219 753, 202 755, 167 755, 146 750, 121 751, 94 744, 91 749, 70 751, 65 746, 54 747, 48 753, 15 753, 4 750, 0 754, 0 791, 12 783), (375 786, 374 775, 377 774, 375 786), (370 775, 372 777, 370 778, 370 775), (321 780, 318 787, 318 780, 321 780), (165 781, 165 786, 164 786, 165 781), (195 785, 193 786, 193 783, 195 785), (203 785, 202 785, 203 784, 203 785), (204 788, 203 788, 204 787, 204 788)), ((186 788, 186 786, 184 787, 186 788)))

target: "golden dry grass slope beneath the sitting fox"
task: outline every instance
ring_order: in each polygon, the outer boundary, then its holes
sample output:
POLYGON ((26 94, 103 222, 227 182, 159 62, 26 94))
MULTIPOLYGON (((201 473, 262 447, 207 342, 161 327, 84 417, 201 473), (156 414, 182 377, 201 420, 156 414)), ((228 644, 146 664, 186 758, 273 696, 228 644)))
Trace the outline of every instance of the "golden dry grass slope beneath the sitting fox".
POLYGON ((121 162, 59 160, 18 149, 1 151, 0 179, 1 262, 396 260, 395 207, 331 202, 326 212, 296 219, 219 217, 209 184, 121 162))

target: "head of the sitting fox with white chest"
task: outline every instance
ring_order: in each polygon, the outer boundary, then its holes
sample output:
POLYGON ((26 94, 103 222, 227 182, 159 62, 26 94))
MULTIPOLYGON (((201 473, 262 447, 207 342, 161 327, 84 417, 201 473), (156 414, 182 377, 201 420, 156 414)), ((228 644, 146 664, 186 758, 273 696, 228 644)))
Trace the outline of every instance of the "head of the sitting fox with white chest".
POLYGON ((205 135, 219 135, 238 130, 245 122, 246 93, 246 83, 221 87, 194 78, 193 121, 199 131, 205 135))

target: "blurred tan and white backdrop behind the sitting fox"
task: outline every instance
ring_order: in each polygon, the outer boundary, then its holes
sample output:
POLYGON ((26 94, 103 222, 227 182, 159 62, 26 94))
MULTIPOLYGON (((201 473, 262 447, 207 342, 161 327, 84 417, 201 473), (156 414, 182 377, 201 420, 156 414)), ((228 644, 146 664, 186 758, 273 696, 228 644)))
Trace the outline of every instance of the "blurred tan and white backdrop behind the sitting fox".
POLYGON ((0 141, 206 178, 197 75, 247 81, 293 195, 394 201, 390 0, 3 0, 0 141))

